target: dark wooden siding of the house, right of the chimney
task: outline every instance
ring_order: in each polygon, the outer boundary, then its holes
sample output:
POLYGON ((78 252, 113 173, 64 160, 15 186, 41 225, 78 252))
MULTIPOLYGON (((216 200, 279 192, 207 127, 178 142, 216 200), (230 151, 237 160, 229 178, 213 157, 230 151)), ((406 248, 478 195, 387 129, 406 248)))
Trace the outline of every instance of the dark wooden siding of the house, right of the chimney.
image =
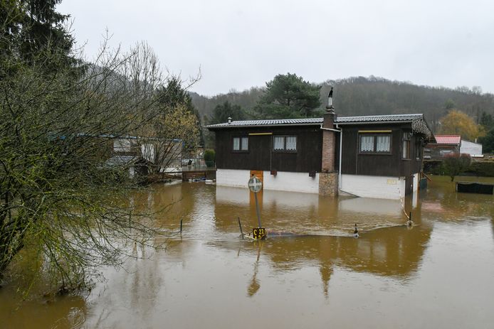
POLYGON ((410 159, 401 158, 403 133, 411 131, 411 124, 347 125, 343 128, 342 173, 370 176, 409 176, 421 169, 421 159, 416 160, 415 148, 419 136, 410 141, 410 159), (359 153, 359 130, 391 130, 391 154, 359 153))

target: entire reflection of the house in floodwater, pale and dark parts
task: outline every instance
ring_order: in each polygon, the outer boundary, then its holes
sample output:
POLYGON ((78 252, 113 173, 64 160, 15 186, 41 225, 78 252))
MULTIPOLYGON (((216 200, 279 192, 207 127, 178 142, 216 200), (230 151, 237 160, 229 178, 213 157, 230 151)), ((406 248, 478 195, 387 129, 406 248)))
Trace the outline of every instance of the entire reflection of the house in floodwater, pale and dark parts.
MULTIPOLYGON (((262 199, 261 217, 268 232, 285 230, 294 235, 246 242, 242 249, 253 257, 261 252, 261 258, 267 257, 275 272, 317 266, 325 296, 335 269, 408 279, 418 269, 431 237, 431 225, 421 222, 420 203, 413 211, 415 226, 409 230, 404 226, 406 217, 397 200, 331 199, 278 191, 264 191, 262 199), (362 229, 359 239, 350 236, 354 222, 362 229)), ((246 226, 244 231, 249 230, 248 225, 256 226, 254 208, 248 190, 216 187, 217 227, 235 230, 235 223, 223 215, 234 209, 246 226)), ((256 289, 248 287, 250 296, 261 285, 257 262, 254 271, 251 283, 256 283, 256 289)))

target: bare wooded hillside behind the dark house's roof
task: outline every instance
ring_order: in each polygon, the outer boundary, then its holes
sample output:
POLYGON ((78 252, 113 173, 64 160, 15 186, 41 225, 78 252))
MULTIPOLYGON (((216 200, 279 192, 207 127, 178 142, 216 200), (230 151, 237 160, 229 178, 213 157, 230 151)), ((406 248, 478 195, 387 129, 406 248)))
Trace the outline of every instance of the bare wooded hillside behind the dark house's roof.
MULTIPOLYGON (((477 123, 480 122, 482 112, 494 114, 494 95, 482 93, 480 87, 429 87, 373 76, 327 80, 319 85, 322 86, 321 109, 327 102, 330 86, 333 86, 335 109, 340 116, 424 113, 431 129, 436 130, 438 120, 451 108, 465 112, 477 123)), ((239 105, 249 118, 254 117, 252 109, 264 90, 264 87, 253 87, 243 92, 228 92, 214 97, 191 92, 191 97, 203 121, 205 116, 211 117, 214 107, 226 101, 239 105)))

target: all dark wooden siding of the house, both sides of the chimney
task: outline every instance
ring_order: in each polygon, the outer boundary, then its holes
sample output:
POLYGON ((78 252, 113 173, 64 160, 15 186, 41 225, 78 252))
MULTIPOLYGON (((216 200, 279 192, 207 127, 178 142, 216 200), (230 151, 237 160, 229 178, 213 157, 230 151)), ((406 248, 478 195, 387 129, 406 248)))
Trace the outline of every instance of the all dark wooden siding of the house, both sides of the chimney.
MULTIPOLYGON (((410 159, 401 158, 403 132, 411 124, 345 125, 343 128, 342 173, 370 176, 409 176, 421 171, 421 159, 416 160, 416 141, 410 141, 410 159), (359 130, 391 130, 391 154, 359 154, 359 130)), ((321 171, 322 131, 318 126, 249 127, 216 129, 216 167, 258 171, 321 171), (249 133, 273 135, 248 136, 249 133), (273 151, 273 136, 297 136, 297 151, 273 151), (233 151, 233 137, 248 136, 248 152, 233 151)), ((339 135, 339 134, 337 134, 339 135)), ((335 167, 339 165, 340 136, 336 139, 335 167)))

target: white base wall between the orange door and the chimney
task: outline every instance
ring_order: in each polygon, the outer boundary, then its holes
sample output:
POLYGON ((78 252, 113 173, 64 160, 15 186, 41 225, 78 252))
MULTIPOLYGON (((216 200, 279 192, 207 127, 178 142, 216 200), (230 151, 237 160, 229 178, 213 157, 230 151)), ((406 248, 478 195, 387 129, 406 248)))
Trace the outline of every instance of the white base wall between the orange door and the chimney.
POLYGON ((319 193, 319 173, 316 173, 315 177, 312 178, 309 173, 278 171, 278 174, 273 176, 269 171, 265 171, 264 188, 266 190, 319 193))

